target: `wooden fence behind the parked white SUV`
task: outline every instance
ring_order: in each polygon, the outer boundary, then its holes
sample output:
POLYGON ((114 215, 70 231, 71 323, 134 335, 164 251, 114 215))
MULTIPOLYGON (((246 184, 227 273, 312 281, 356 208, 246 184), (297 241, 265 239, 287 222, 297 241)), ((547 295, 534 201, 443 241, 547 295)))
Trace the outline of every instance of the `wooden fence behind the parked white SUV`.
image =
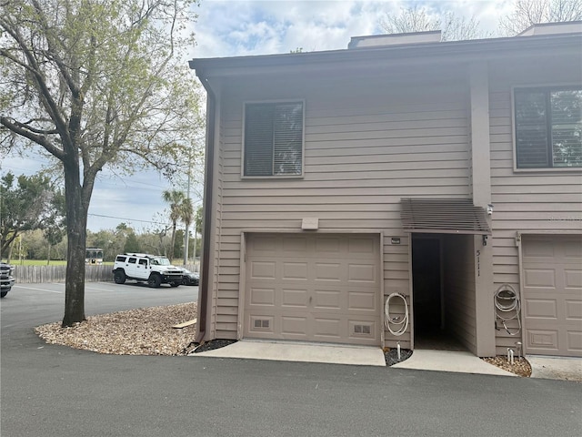
MULTIPOLYGON (((112 282, 113 266, 85 265, 85 282, 112 282)), ((186 269, 196 271, 194 265, 186 269)), ((14 277, 16 284, 35 284, 41 282, 65 282, 66 266, 20 266, 15 265, 14 277)))

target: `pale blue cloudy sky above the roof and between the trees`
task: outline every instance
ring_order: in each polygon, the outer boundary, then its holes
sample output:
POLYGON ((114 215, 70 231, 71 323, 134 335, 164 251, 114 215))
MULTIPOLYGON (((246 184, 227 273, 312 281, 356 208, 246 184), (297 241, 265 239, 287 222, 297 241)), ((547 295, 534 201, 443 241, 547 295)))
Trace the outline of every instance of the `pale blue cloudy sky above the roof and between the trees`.
MULTIPOLYGON (((196 46, 189 57, 252 56, 304 51, 344 49, 352 36, 382 33, 379 20, 397 14, 401 7, 419 5, 475 16, 487 31, 497 31, 498 17, 513 9, 507 0, 395 1, 243 1, 202 0, 196 8, 196 46)), ((32 175, 45 158, 2 157, 0 172, 32 175)), ((200 175, 200 180, 202 176, 200 175)), ((170 188, 153 172, 115 176, 103 172, 95 184, 89 208, 88 229, 115 229, 125 222, 137 231, 151 229, 166 216, 162 192, 170 188)), ((197 190, 201 191, 198 187, 197 190)), ((193 192, 195 202, 198 195, 193 192)), ((198 204, 200 202, 198 201, 198 204)))

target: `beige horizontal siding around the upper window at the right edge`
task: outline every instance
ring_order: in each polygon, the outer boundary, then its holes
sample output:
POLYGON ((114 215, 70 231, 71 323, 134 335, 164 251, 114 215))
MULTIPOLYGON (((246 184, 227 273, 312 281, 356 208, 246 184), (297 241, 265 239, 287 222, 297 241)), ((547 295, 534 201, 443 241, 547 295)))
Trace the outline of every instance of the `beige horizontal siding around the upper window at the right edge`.
MULTIPOLYGON (((551 67, 535 61, 491 63, 490 140, 495 288, 519 290, 517 231, 582 230, 582 169, 514 171, 512 86, 582 84, 582 56, 555 56, 551 67)), ((516 337, 497 330, 497 353, 515 347, 516 337)), ((520 339, 518 339, 520 340, 520 339)))

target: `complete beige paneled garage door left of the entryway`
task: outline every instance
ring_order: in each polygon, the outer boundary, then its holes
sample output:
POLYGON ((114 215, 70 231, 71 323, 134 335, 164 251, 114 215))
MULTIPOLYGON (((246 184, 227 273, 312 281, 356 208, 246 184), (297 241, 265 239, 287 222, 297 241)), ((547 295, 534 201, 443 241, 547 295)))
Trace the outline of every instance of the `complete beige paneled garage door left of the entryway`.
POLYGON ((379 345, 378 239, 248 234, 244 336, 379 345))

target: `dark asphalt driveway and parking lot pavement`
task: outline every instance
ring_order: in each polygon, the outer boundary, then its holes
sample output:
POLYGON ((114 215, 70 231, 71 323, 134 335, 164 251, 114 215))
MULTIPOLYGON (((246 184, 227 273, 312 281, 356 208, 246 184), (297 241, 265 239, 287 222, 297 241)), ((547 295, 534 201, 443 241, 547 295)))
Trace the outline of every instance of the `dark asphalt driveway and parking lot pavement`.
MULTIPOLYGON (((87 289, 87 315, 192 301, 197 293, 87 289)), ((582 385, 572 381, 48 345, 33 328, 62 318, 59 290, 23 284, 0 303, 2 437, 582 433, 582 385)))

